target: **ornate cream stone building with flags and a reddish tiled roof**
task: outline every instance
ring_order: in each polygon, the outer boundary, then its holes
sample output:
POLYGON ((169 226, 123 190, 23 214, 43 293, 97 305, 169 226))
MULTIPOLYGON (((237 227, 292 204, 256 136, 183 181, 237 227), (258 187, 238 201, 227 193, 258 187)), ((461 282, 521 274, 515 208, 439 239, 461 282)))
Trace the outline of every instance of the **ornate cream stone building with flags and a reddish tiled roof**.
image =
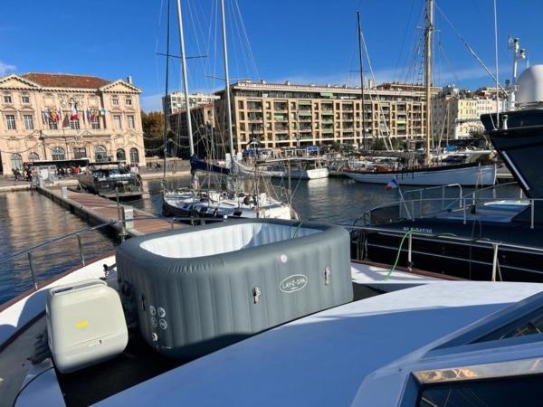
POLYGON ((145 164, 139 90, 128 80, 56 73, 0 79, 0 167, 112 157, 145 164))

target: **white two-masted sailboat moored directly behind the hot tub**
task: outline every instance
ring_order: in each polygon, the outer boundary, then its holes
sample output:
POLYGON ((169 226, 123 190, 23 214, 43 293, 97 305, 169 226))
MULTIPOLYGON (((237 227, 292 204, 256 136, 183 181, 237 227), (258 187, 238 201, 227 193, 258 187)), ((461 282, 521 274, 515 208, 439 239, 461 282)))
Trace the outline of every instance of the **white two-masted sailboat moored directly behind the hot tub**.
MULTIPOLYGON (((297 219, 298 216, 292 210, 290 204, 284 204, 271 197, 267 192, 257 191, 247 193, 244 190, 229 188, 226 191, 201 189, 198 187, 196 173, 203 171, 206 173, 232 176, 230 168, 216 166, 207 163, 205 160, 198 159, 195 156, 195 148, 192 132, 192 121, 190 117, 189 98, 188 98, 188 80, 186 76, 186 54, 185 38, 183 32, 183 14, 181 4, 177 1, 177 20, 179 28, 179 44, 181 48, 182 79, 186 99, 186 124, 188 131, 189 150, 191 156, 191 186, 182 190, 165 191, 163 195, 162 208, 163 213, 167 215, 198 218, 224 218, 224 217, 243 217, 243 218, 273 218, 273 219, 297 219)), ((228 51, 226 43, 226 27, 224 15, 224 0, 221 1, 222 28, 223 28, 223 53, 224 53, 224 83, 226 89, 226 115, 228 122, 228 136, 230 141, 230 151, 233 156, 233 134, 232 134, 232 112, 230 105, 230 78, 228 72, 228 51)), ((169 33, 168 33, 169 34, 169 33)), ((166 128, 165 128, 166 133, 166 128)), ((166 146, 166 144, 165 144, 166 146)), ((165 150, 166 156, 166 150, 165 150)), ((233 160, 232 160, 233 161, 233 160)), ((166 166, 165 166, 166 167, 166 166)), ((231 180, 232 181, 232 180, 231 180)), ((255 185, 258 182, 255 183, 255 185)), ((229 185, 237 183, 230 182, 229 185)))

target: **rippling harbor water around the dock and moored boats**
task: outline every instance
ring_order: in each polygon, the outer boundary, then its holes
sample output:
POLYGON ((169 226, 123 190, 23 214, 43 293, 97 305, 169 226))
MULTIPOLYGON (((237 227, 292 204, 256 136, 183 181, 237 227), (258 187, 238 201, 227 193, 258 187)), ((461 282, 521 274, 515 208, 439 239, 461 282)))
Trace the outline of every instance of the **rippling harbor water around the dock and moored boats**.
MULTIPOLYGON (((168 181, 168 187, 188 186, 189 182, 189 177, 179 177, 168 181)), ((161 181, 144 181, 144 188, 149 193, 148 198, 129 204, 159 215, 162 207, 161 181)), ((291 189, 293 206, 300 219, 343 225, 352 224, 376 205, 400 200, 397 189, 386 191, 384 185, 358 184, 347 178, 292 181, 291 189)), ((500 190, 500 198, 519 196, 516 185, 506 185, 500 190)), ((471 191, 464 188, 462 194, 471 191)), ((406 192, 407 189, 404 194, 406 192)), ((435 193, 435 196, 441 196, 441 191, 436 190, 435 193)), ((446 194, 456 198, 459 192, 450 188, 446 194)), ((411 196, 413 198, 414 195, 411 196)), ((87 222, 37 192, 0 194, 0 260, 3 260, 0 262, 0 304, 32 288, 28 257, 6 258, 43 241, 85 228, 89 228, 87 222)), ((93 231, 83 235, 82 243, 85 258, 90 260, 113 251, 118 241, 106 232, 93 231)), ((81 260, 76 238, 70 237, 34 251, 33 263, 39 281, 78 266, 81 260)))

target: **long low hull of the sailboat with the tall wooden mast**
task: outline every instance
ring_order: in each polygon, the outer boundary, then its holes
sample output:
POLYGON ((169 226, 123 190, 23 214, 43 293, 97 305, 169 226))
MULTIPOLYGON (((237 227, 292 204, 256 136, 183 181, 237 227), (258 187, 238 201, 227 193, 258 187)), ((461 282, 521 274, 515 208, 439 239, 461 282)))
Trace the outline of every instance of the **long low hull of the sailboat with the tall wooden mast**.
POLYGON ((411 171, 382 171, 382 172, 345 172, 349 178, 359 183, 388 184, 395 178, 399 185, 448 185, 460 184, 494 185, 496 182, 496 166, 461 165, 438 166, 431 169, 416 169, 411 171))

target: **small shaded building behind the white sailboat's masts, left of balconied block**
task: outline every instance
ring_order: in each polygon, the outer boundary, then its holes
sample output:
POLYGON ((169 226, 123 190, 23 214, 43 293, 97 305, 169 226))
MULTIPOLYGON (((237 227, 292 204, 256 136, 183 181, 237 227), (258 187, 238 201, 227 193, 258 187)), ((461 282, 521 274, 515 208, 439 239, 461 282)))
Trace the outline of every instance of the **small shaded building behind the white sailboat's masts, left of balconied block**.
MULTIPOLYGON (((214 103, 206 103, 190 109, 191 124, 195 154, 200 158, 211 157, 213 153, 219 154, 214 139, 216 133, 216 120, 214 103)), ((177 148, 182 148, 181 156, 190 156, 188 149, 188 128, 186 126, 186 110, 168 116, 169 126, 176 135, 177 148)), ((218 135, 217 135, 218 136, 218 135)), ((217 137, 220 138, 220 137, 217 137)), ((221 143, 222 144, 222 143, 221 143)), ((222 156, 222 155, 221 155, 222 156)))

